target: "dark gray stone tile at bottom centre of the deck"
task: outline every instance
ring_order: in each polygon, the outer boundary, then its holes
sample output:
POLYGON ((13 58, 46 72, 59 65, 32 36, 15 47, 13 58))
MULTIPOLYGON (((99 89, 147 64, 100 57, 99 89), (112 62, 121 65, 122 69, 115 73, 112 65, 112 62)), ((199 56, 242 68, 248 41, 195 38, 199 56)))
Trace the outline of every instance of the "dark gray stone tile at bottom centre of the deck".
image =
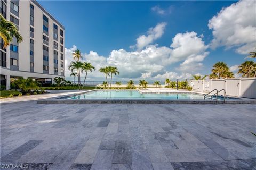
POLYGON ((131 162, 131 142, 129 140, 117 140, 112 163, 131 162))

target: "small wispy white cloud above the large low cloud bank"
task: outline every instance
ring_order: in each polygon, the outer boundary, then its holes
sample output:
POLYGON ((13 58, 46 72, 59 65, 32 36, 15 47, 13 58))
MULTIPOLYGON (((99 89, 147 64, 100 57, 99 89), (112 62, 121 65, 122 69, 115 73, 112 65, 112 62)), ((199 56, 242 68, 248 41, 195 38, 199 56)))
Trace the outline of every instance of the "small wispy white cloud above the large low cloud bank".
MULTIPOLYGON (((146 47, 147 45, 149 45, 150 43, 153 43, 154 40, 162 37, 162 35, 164 34, 164 29, 166 27, 167 23, 166 22, 162 22, 162 23, 158 23, 156 25, 156 27, 154 28, 149 28, 148 32, 147 32, 147 36, 146 35, 141 35, 139 36, 136 40, 137 40, 137 48, 138 49, 142 49, 144 47, 146 47)), ((133 47, 133 46, 131 46, 133 47)))

